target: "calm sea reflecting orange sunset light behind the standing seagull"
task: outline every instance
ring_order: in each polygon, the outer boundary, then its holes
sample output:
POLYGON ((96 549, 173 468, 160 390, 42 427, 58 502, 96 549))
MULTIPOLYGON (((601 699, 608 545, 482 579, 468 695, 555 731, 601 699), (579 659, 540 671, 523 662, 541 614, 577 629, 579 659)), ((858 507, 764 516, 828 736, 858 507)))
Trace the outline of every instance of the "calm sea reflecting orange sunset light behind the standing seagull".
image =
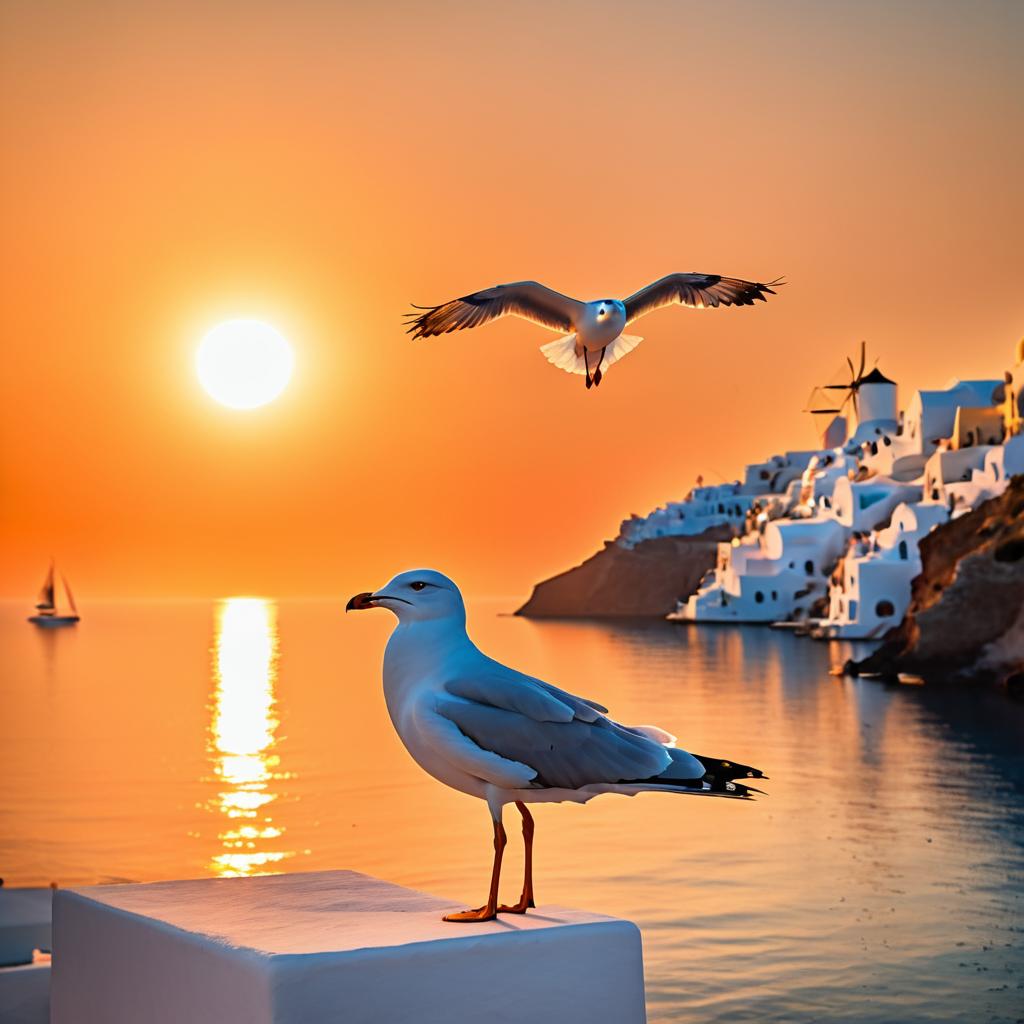
MULTIPOLYGON (((531 623, 510 603, 470 610, 493 655, 771 776, 751 804, 536 812, 541 903, 640 925, 651 1021, 1024 1018, 1024 708, 835 678, 848 649, 784 633, 531 623)), ((478 905, 486 811, 392 732, 390 623, 231 598, 96 605, 46 633, 0 606, 0 876, 346 867, 478 905)))

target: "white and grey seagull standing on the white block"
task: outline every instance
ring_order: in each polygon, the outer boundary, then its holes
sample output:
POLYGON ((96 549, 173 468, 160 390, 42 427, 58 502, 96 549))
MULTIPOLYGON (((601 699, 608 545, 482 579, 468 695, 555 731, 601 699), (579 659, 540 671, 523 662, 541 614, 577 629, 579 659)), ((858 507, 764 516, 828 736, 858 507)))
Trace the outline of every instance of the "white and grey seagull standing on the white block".
POLYGON ((439 782, 487 802, 495 859, 487 901, 445 921, 492 921, 534 902, 534 818, 527 804, 586 803, 602 793, 656 791, 749 799, 735 781, 756 768, 687 754, 651 725, 620 725, 607 709, 487 657, 466 633, 459 588, 433 569, 401 572, 348 610, 387 608, 398 624, 384 651, 384 698, 413 760, 439 782), (522 817, 525 876, 517 903, 499 905, 507 843, 502 808, 522 817))

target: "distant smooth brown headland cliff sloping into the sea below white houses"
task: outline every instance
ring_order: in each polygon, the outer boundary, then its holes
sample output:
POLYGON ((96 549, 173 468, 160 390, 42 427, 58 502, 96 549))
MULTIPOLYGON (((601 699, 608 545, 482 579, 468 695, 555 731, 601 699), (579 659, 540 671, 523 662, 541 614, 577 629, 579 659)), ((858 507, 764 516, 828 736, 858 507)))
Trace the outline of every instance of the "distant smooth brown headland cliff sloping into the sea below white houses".
POLYGON ((714 567, 718 542, 732 536, 729 526, 717 526, 696 537, 654 538, 635 548, 609 542, 582 565, 539 583, 516 614, 532 618, 667 615, 714 567))

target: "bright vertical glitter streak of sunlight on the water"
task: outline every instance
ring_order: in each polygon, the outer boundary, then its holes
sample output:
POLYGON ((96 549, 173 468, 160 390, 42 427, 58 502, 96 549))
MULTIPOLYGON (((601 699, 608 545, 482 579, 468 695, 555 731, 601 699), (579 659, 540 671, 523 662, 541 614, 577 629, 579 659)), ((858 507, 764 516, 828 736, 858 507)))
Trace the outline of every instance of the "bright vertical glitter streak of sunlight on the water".
POLYGON ((212 809, 224 820, 215 874, 266 874, 293 854, 281 849, 284 828, 270 811, 287 778, 274 753, 278 614, 272 601, 230 597, 217 607, 210 756, 219 783, 212 809))

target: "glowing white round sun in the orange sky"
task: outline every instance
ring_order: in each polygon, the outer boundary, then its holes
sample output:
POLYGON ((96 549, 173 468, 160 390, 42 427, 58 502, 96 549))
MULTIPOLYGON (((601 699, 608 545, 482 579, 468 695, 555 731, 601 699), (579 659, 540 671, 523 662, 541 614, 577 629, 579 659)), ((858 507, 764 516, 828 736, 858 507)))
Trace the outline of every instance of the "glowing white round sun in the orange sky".
POLYGON ((256 409, 288 386, 292 348, 260 321, 227 321, 213 328, 196 353, 196 372, 211 398, 229 409, 256 409))

